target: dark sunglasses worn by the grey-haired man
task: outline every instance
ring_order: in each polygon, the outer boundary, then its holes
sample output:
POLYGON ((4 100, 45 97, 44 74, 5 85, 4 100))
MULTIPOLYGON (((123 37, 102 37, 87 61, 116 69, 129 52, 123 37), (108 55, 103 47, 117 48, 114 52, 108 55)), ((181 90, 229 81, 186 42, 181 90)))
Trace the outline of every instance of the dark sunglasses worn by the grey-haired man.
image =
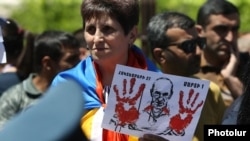
POLYGON ((206 38, 198 37, 191 40, 186 40, 182 43, 172 43, 168 46, 178 46, 181 50, 183 50, 185 53, 194 53, 196 51, 196 45, 200 47, 200 49, 203 49, 206 47, 206 38))

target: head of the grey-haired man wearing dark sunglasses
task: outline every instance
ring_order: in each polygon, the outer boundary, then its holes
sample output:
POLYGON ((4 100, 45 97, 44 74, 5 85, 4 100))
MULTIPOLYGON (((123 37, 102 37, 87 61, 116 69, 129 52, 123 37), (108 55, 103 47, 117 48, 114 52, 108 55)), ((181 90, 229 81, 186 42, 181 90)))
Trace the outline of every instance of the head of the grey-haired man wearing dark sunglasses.
POLYGON ((206 40, 198 36, 192 19, 164 12, 151 19, 147 32, 153 58, 164 73, 191 76, 199 71, 206 40))

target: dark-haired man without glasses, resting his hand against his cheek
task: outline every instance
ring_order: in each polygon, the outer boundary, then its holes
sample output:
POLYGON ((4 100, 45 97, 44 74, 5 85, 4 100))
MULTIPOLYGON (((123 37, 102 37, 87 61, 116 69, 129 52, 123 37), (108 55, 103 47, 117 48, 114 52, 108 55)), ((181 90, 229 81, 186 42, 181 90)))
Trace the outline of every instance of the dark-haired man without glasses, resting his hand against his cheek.
POLYGON ((207 39, 197 76, 219 85, 223 100, 229 106, 243 92, 236 76, 240 61, 237 48, 240 13, 229 1, 208 0, 198 11, 197 24, 200 36, 207 39))

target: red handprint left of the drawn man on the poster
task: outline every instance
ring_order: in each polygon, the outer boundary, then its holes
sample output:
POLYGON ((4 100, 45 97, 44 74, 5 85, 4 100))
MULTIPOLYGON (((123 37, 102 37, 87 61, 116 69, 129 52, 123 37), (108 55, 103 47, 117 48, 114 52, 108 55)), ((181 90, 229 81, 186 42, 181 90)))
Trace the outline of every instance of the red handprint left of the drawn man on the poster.
POLYGON ((115 106, 116 117, 118 118, 117 126, 124 127, 126 124, 134 124, 139 118, 139 111, 135 107, 136 101, 139 97, 141 97, 145 84, 141 84, 138 91, 135 93, 134 97, 131 97, 133 93, 133 88, 136 79, 130 79, 130 88, 129 93, 127 93, 127 80, 123 80, 123 94, 119 95, 119 90, 117 85, 113 86, 114 92, 116 94, 117 104, 115 106), (125 104, 129 105, 129 108, 125 108, 125 104))

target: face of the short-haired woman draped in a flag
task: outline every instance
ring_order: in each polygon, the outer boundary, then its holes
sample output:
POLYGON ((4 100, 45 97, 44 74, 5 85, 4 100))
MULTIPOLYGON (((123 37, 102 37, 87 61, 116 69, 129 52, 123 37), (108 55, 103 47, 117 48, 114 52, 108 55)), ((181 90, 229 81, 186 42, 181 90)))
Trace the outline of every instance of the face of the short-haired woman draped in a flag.
POLYGON ((117 20, 103 15, 85 22, 84 36, 90 54, 97 63, 126 64, 132 42, 117 20))

